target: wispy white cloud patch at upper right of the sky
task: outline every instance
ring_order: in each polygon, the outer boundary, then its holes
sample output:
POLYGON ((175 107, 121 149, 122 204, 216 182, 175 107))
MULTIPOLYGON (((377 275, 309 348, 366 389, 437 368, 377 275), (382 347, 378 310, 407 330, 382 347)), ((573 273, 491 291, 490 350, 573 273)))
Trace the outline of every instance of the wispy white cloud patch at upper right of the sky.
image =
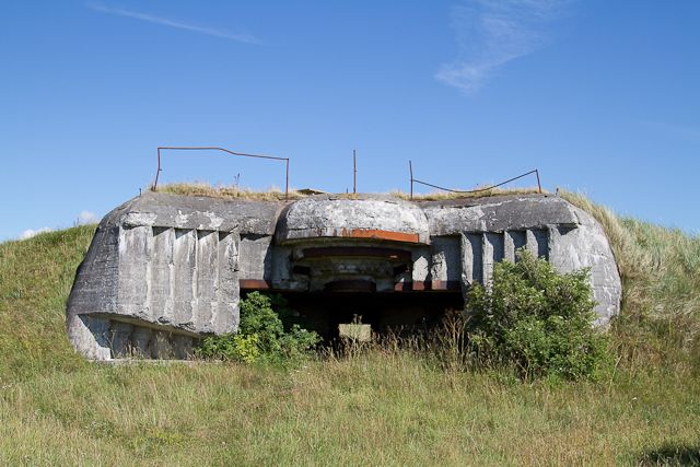
POLYGON ((568 0, 470 0, 454 7, 459 56, 435 79, 465 95, 477 93, 505 63, 534 52, 547 39, 545 26, 568 0))

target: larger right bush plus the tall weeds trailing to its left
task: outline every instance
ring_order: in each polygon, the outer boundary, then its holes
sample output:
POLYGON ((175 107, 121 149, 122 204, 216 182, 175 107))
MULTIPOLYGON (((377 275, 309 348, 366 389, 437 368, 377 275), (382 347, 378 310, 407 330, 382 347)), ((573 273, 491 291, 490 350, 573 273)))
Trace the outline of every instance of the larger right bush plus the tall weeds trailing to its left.
MULTIPOLYGON (((559 273, 528 250, 494 266, 487 287, 475 284, 464 310, 448 310, 424 332, 389 331, 371 341, 341 339, 330 357, 408 353, 448 373, 487 371, 533 382, 599 380, 614 365, 610 337, 594 322, 588 270, 559 273)), ((359 323, 359 322, 358 322, 359 323)))

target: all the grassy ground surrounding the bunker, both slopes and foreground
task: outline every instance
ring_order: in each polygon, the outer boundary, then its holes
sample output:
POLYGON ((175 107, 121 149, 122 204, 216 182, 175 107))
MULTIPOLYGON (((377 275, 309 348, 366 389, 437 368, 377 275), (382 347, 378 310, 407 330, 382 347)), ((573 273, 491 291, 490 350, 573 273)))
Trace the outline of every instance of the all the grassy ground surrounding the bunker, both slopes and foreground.
POLYGON ((0 465, 700 462, 700 240, 584 198, 625 284, 618 364, 521 383, 375 349, 292 367, 80 359, 65 304, 94 227, 0 244, 0 465))

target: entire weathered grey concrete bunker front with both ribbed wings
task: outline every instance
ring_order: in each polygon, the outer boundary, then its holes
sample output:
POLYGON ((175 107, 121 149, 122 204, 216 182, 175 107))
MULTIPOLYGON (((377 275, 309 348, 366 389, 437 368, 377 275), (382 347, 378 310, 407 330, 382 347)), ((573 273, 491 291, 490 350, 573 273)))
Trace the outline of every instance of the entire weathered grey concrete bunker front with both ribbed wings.
POLYGON ((618 313, 620 279, 602 227, 558 197, 282 203, 147 192, 101 222, 71 291, 68 332, 91 359, 185 358, 192 339, 236 329, 241 287, 466 292, 520 247, 561 271, 590 267, 600 322, 618 313))

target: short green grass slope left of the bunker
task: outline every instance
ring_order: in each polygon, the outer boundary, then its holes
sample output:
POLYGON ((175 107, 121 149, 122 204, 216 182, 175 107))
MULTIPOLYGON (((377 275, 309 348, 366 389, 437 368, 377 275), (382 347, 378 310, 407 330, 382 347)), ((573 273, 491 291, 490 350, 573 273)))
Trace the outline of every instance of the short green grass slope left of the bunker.
POLYGON ((0 385, 84 365, 66 336, 66 300, 94 230, 0 244, 0 385))

